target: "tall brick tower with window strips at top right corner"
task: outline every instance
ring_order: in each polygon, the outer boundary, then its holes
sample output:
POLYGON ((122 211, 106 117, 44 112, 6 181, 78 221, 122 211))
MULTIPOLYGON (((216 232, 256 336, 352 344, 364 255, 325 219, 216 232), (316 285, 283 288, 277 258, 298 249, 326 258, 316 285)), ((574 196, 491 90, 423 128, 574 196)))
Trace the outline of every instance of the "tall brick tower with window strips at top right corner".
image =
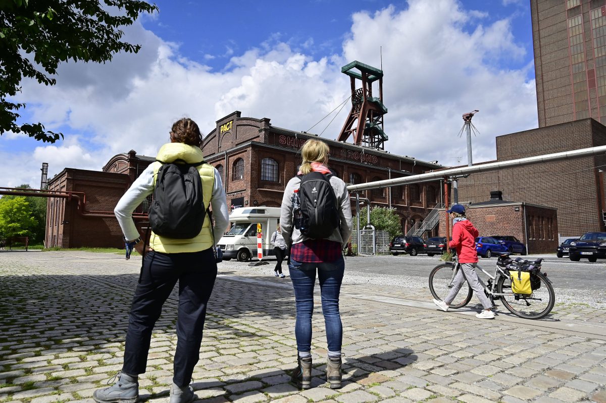
POLYGON ((539 127, 593 117, 606 123, 606 0, 531 0, 539 127))

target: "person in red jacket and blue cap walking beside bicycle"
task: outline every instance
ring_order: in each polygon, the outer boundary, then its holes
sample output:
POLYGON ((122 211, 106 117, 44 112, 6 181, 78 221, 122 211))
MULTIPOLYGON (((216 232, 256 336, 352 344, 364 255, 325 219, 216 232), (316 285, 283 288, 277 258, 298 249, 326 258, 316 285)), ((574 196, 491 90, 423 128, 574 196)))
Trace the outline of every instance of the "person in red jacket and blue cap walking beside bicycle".
POLYGON ((465 283, 465 280, 467 280, 476 297, 478 297, 484 307, 484 310, 476 316, 481 319, 493 319, 493 306, 484 293, 484 288, 478 280, 478 274, 476 274, 475 269, 476 264, 478 263, 478 254, 476 252, 476 237, 478 237, 478 230, 471 224, 471 221, 465 218, 464 206, 454 205, 448 210, 448 213, 450 214, 450 217, 453 218, 453 237, 450 240, 450 247, 456 249, 461 270, 459 270, 454 277, 453 287, 450 289, 447 297, 444 298, 444 301, 433 300, 433 302, 440 309, 447 311, 448 306, 450 306, 450 303, 452 303, 454 297, 456 297, 465 283))

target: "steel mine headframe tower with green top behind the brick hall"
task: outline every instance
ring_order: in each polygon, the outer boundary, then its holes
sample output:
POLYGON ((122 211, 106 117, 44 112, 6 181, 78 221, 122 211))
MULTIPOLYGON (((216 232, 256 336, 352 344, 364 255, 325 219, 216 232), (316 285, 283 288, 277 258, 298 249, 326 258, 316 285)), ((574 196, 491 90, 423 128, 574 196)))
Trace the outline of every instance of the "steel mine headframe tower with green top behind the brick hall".
POLYGON ((341 68, 351 80, 351 112, 337 140, 345 141, 353 135, 353 143, 376 149, 385 149, 387 135, 383 131, 383 71, 367 64, 353 61, 341 68), (354 70, 357 69, 358 71, 354 70), (356 80, 362 88, 356 88, 356 80), (373 97, 373 82, 379 83, 379 97, 373 97))

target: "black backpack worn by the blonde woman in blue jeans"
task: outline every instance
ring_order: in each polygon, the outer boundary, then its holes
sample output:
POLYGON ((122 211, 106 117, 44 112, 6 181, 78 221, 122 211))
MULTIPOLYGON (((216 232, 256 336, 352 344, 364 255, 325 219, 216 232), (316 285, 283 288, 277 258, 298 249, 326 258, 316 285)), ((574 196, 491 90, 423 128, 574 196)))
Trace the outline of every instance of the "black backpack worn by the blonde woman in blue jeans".
POLYGON ((341 219, 335 191, 330 185, 332 174, 310 172, 301 178, 301 234, 313 239, 325 239, 339 228, 341 219))

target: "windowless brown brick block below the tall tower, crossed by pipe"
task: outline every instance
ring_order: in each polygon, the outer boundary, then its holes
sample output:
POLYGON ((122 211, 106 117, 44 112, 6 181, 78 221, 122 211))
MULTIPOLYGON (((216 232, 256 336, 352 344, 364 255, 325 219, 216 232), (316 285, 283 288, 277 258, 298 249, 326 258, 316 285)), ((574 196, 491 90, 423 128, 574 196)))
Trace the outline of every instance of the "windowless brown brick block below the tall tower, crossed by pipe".
MULTIPOLYGON (((606 127, 583 119, 499 136, 496 154, 507 161, 601 145, 606 127)), ((595 156, 473 174, 459 180, 459 201, 479 203, 500 190, 504 200, 556 208, 562 237, 604 231, 604 176, 598 172, 604 165, 606 156, 595 156)))

